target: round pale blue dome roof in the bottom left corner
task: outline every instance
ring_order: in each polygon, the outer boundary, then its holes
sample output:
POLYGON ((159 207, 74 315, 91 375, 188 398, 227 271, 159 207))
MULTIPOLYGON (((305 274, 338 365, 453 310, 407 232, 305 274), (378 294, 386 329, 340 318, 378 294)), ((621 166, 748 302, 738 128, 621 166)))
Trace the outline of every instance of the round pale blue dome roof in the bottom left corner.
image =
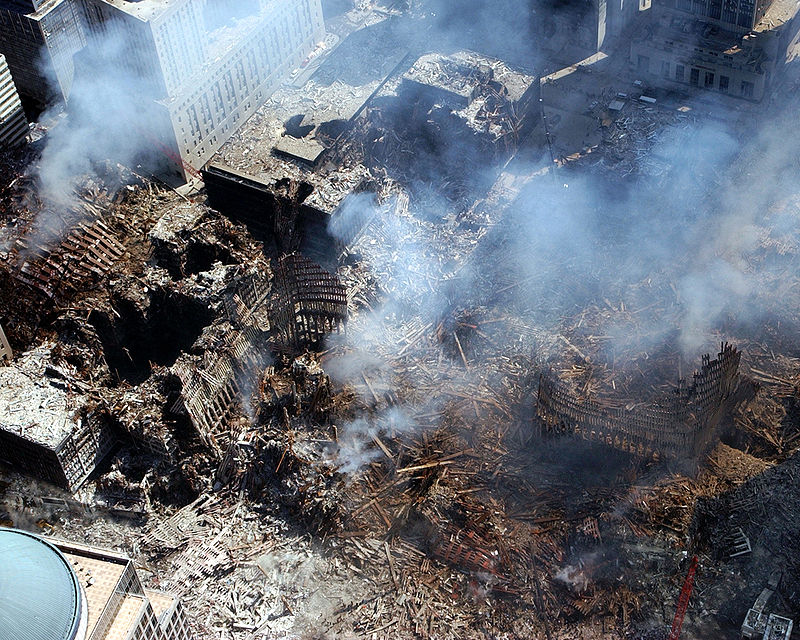
POLYGON ((67 559, 50 543, 0 528, 0 636, 76 640, 81 589, 67 559))

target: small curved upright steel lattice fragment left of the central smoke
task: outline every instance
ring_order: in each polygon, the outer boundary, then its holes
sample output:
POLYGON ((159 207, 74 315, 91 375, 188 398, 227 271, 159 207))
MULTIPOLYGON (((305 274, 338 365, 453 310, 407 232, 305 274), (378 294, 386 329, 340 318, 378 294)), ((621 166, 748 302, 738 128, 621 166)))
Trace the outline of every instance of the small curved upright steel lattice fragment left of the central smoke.
POLYGON ((303 256, 292 254, 278 262, 277 301, 272 324, 281 348, 318 345, 347 322, 347 289, 339 279, 303 256))

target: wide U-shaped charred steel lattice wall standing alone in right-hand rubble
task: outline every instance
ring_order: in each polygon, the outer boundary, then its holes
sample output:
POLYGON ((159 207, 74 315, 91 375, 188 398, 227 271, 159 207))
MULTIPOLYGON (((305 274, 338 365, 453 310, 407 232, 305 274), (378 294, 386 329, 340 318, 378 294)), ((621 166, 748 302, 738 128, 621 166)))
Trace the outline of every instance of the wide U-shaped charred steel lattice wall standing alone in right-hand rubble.
POLYGON ((697 458, 713 444, 716 426, 739 382, 741 353, 727 343, 716 360, 703 356, 692 385, 628 410, 585 400, 550 374, 539 378, 537 414, 550 433, 572 433, 639 455, 697 458))

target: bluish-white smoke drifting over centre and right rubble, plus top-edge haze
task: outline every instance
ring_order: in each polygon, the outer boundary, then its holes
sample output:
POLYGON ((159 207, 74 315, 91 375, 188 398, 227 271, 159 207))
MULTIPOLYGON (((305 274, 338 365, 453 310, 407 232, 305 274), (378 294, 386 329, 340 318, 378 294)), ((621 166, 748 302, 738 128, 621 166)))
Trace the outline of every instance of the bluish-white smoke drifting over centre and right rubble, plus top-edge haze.
MULTIPOLYGON (((416 7, 427 25, 426 38, 445 43, 448 51, 466 42, 488 55, 516 48, 517 57, 529 55, 532 65, 543 65, 542 51, 521 34, 530 29, 519 18, 527 9, 511 4, 460 3, 455 10, 431 2, 416 7), (514 10, 517 24, 501 28, 514 10)), ((626 356, 672 349, 696 363, 720 339, 746 342, 776 325, 788 333, 797 327, 800 311, 797 288, 787 281, 800 267, 800 167, 791 142, 797 98, 791 102, 782 108, 745 106, 705 92, 702 102, 687 99, 679 112, 674 105, 651 107, 631 100, 619 117, 644 129, 641 144, 618 150, 618 141, 602 131, 610 141, 596 153, 605 162, 590 156, 564 168, 548 166, 547 158, 524 164, 521 157, 537 157, 535 149, 524 150, 508 171, 531 179, 499 222, 474 234, 459 225, 464 212, 457 204, 427 197, 413 179, 399 179, 407 189, 407 209, 396 206, 403 197, 396 192, 396 200, 383 205, 363 195, 349 199, 337 216, 352 224, 371 221, 365 236, 375 244, 356 242, 341 274, 361 289, 368 274, 377 294, 360 304, 344 342, 329 345, 344 347, 347 356, 330 361, 326 369, 339 382, 364 390, 367 401, 372 394, 360 378, 373 371, 370 376, 382 386, 404 392, 405 411, 414 415, 444 403, 441 397, 415 392, 429 382, 420 369, 397 366, 413 351, 409 339, 418 331, 425 335, 416 346, 427 349, 426 366, 440 352, 433 375, 442 387, 466 389, 485 373, 463 371, 456 378, 452 355, 428 340, 442 319, 459 308, 510 311, 523 326, 552 337, 564 335, 584 313, 587 324, 591 316, 591 333, 602 336, 592 357, 611 361, 621 356, 623 366, 626 356), (750 117, 729 117, 741 110, 750 117), (617 170, 614 162, 631 168, 617 170), (477 248, 466 246, 471 242, 477 248), (400 370, 402 376, 396 373, 400 370)), ((596 126, 601 128, 600 122, 596 126)), ((559 140, 562 132, 556 128, 553 135, 559 140)), ((538 143, 540 151, 546 150, 543 136, 538 143)), ((471 153, 466 147, 448 150, 455 156, 471 153)), ((424 182, 436 189, 465 178, 448 173, 450 166, 440 163, 424 182)), ((473 164, 469 179, 492 183, 500 169, 488 161, 473 164)), ((331 229, 334 236, 337 231, 331 229)), ((501 324, 485 329, 489 339, 506 339, 509 326, 501 324)), ((557 339, 540 345, 545 356, 564 349, 557 339)), ((683 375, 689 373, 687 367, 683 375)), ((347 428, 354 438, 348 455, 359 461, 356 467, 379 455, 370 442, 372 423, 359 420, 347 428)))

